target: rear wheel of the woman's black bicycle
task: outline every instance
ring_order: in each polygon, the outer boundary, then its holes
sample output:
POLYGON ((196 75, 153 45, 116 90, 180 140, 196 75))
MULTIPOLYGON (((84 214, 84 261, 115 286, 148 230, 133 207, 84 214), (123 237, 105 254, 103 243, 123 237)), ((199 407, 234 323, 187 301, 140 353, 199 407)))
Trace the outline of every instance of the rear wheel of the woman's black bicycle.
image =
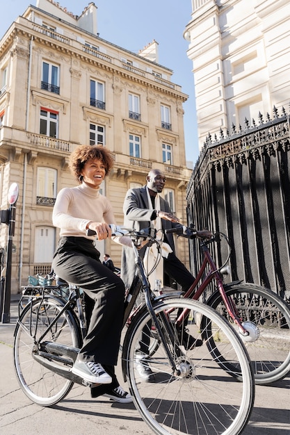
MULTIPOLYGON (((43 407, 58 403, 70 392, 74 384, 33 358, 33 354, 38 354, 40 349, 38 337, 45 331, 49 322, 56 318, 63 305, 60 299, 53 297, 33 299, 22 311, 15 328, 13 356, 17 380, 26 396, 43 407)), ((73 313, 65 311, 43 341, 57 341, 63 345, 80 347, 79 328, 73 313)), ((55 363, 61 365, 61 362, 55 363)))

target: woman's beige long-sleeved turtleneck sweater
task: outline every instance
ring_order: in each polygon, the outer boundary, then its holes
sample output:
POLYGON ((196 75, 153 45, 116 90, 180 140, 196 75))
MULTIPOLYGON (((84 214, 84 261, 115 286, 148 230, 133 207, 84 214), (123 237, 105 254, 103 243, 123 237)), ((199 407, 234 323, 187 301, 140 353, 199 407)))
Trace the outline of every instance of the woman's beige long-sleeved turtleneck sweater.
MULTIPOLYGON (((81 183, 74 188, 63 188, 56 197, 52 222, 61 229, 60 236, 85 237, 95 240, 95 236, 86 236, 88 222, 106 222, 116 224, 111 203, 99 189, 90 188, 81 183)), ((129 237, 112 237, 120 245, 131 246, 129 237)))

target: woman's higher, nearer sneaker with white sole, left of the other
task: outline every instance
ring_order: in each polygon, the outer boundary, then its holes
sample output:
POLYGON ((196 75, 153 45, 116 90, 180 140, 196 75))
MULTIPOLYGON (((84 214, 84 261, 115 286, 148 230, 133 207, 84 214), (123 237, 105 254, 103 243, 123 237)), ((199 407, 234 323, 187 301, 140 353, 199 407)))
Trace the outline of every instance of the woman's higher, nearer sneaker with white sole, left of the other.
POLYGON ((82 377, 87 382, 92 384, 111 384, 112 378, 102 364, 93 363, 91 361, 79 361, 76 359, 74 366, 72 366, 74 375, 82 377))

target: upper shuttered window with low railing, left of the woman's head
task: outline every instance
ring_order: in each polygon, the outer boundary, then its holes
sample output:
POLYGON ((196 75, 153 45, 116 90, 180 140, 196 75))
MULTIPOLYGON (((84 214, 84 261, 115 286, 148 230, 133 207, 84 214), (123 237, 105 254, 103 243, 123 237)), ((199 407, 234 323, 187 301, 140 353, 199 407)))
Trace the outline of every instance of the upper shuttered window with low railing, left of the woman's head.
POLYGON ((54 205, 57 171, 51 167, 38 167, 36 204, 54 205))

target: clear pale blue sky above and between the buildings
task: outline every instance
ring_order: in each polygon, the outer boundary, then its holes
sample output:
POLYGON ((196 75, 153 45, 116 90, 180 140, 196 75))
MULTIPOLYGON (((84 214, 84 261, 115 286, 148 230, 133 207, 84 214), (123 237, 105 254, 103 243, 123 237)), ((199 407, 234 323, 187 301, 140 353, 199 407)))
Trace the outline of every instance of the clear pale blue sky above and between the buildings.
MULTIPOLYGON (((62 7, 80 15, 90 0, 58 0, 62 7)), ((152 40, 159 43, 159 63, 173 70, 172 81, 182 86, 188 101, 184 104, 186 160, 198 158, 195 97, 192 62, 186 56, 188 42, 183 38, 191 19, 191 0, 95 0, 100 38, 138 53, 152 40)), ((18 15, 36 0, 9 0, 1 8, 0 35, 18 15)))

